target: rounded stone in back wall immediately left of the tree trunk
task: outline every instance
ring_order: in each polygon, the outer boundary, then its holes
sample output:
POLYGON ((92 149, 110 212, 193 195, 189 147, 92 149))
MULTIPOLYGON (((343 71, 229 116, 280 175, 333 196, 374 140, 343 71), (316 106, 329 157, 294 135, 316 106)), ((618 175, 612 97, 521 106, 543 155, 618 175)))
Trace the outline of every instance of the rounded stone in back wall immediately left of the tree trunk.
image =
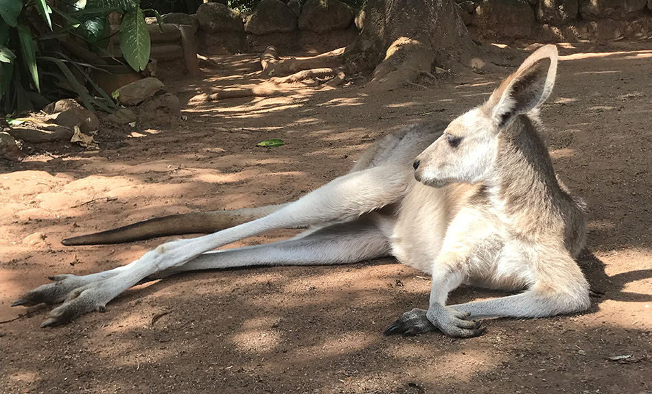
POLYGON ((299 16, 299 28, 318 34, 346 29, 355 13, 339 0, 307 0, 299 16))

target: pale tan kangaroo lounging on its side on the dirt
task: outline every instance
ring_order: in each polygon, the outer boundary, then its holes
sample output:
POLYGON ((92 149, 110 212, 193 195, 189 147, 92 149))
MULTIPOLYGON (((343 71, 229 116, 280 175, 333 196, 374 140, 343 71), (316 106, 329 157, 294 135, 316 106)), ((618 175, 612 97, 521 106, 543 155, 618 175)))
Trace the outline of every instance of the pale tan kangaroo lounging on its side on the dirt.
POLYGON ((584 206, 552 169, 538 107, 557 73, 557 48, 535 51, 491 97, 448 125, 390 134, 347 175, 288 204, 174 215, 69 238, 66 245, 115 243, 163 234, 213 232, 164 243, 135 262, 91 275, 56 275, 13 306, 62 305, 41 325, 67 323, 147 278, 253 265, 346 264, 395 256, 432 275, 427 310, 412 309, 385 334, 439 330, 482 334, 480 319, 546 317, 590 306, 574 261, 585 245, 584 206), (416 158, 416 160, 415 160, 416 158), (267 245, 215 250, 283 227, 308 227, 267 245), (513 295, 447 305, 462 283, 513 295))

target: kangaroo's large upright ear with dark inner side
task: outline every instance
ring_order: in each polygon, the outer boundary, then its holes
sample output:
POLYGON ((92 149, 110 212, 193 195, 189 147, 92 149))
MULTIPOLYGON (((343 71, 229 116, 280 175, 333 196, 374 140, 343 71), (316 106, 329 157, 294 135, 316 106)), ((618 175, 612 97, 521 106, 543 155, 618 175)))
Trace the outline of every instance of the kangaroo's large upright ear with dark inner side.
POLYGON ((482 108, 498 130, 515 116, 533 110, 548 99, 557 75, 557 47, 539 48, 493 91, 482 108))

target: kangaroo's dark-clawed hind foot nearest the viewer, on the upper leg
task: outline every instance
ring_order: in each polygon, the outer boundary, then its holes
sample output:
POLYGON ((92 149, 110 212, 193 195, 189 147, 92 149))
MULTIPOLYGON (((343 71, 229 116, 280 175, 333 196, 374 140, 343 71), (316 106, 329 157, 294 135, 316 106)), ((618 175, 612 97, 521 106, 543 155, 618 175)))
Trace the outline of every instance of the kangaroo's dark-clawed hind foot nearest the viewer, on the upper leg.
POLYGON ((40 326, 51 327, 69 323, 73 319, 93 310, 104 312, 106 310, 105 297, 102 296, 101 291, 97 291, 96 288, 91 286, 92 284, 82 288, 75 288, 62 305, 49 312, 47 319, 40 326))

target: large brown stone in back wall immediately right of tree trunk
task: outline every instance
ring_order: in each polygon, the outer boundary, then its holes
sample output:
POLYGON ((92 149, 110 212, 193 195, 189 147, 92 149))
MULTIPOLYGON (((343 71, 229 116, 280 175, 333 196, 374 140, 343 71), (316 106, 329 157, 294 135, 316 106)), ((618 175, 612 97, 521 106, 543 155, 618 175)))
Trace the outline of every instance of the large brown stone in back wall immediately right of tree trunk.
POLYGON ((536 23, 534 10, 526 0, 483 0, 471 25, 478 33, 493 32, 495 36, 525 38, 531 36, 536 23), (500 29, 496 27, 500 26, 500 29))

